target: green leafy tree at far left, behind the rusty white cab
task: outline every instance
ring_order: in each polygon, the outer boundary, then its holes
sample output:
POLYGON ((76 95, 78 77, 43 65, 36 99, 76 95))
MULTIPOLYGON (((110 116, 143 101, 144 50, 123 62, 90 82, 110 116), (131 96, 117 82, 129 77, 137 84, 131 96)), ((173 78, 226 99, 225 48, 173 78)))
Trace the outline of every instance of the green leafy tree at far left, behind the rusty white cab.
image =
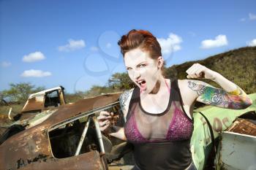
POLYGON ((31 93, 37 93, 42 90, 45 90, 45 88, 36 88, 35 85, 31 85, 31 82, 10 83, 10 90, 3 90, 1 97, 8 98, 8 101, 11 102, 23 104, 31 93))

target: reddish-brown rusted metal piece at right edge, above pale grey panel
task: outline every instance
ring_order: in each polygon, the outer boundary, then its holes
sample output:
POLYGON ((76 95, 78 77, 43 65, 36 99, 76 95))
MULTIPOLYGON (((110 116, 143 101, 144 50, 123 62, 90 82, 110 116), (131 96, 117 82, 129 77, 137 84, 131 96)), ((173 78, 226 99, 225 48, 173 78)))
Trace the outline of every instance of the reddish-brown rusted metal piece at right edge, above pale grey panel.
POLYGON ((256 124, 252 120, 238 118, 227 131, 256 136, 256 124))

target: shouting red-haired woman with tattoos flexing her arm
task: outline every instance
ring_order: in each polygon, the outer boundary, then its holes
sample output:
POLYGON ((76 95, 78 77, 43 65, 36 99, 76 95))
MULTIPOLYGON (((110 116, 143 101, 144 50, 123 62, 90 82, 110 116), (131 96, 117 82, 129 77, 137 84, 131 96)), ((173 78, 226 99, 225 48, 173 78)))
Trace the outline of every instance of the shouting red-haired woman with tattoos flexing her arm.
POLYGON ((161 47, 148 31, 129 31, 118 45, 137 87, 120 97, 124 127, 110 127, 109 112, 100 112, 98 120, 101 131, 134 145, 134 169, 195 169, 189 148, 195 101, 229 109, 252 104, 241 88, 199 63, 187 70, 187 78, 204 77, 223 89, 197 80, 165 79, 161 47))

